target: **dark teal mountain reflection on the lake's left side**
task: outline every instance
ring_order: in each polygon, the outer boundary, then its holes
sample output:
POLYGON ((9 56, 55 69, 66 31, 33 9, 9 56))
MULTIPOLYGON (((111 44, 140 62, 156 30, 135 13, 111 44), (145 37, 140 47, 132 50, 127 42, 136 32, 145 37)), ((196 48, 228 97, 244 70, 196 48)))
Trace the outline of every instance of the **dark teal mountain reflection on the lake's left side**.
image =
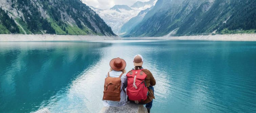
POLYGON ((97 48, 111 44, 5 42, 0 45, 0 111, 30 112, 56 93, 63 95, 79 73, 100 59, 101 50, 97 48))

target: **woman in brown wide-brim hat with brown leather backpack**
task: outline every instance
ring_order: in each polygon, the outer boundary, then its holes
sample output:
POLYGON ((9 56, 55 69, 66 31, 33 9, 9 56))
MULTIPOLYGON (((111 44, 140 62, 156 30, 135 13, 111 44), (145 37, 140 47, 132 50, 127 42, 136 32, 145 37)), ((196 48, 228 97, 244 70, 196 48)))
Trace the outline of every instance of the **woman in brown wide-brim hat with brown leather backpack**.
MULTIPOLYGON (((106 74, 105 78, 105 84, 104 84, 104 96, 103 96, 103 105, 105 107, 109 106, 124 106, 126 104, 126 91, 125 88, 127 87, 127 77, 126 77, 126 62, 123 59, 120 58, 114 58, 110 61, 110 71, 106 74), (119 99, 111 99, 112 98, 112 93, 113 91, 107 91, 107 89, 111 90, 111 87, 113 86, 108 86, 108 85, 113 85, 110 82, 119 80, 121 79, 121 85, 119 86, 114 86, 116 89, 119 91, 119 96, 117 96, 119 99), (114 79, 114 80, 113 80, 114 79), (121 92, 120 92, 121 91, 121 92), (110 93, 110 94, 107 94, 110 93), (108 95, 111 95, 108 97, 108 95), (115 101, 111 101, 115 100, 115 101)), ((117 84, 119 84, 117 83, 117 84)), ((113 89, 112 89, 113 90, 113 89)), ((118 94, 117 94, 118 95, 118 94)), ((116 97, 115 97, 116 98, 116 97)))

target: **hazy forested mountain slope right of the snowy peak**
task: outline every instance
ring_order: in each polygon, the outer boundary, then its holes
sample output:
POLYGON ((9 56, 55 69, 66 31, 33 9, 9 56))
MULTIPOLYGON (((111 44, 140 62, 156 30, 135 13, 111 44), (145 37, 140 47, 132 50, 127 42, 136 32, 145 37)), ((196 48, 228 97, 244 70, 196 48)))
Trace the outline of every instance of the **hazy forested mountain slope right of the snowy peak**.
POLYGON ((158 0, 143 20, 124 37, 255 30, 255 6, 255 0, 158 0))

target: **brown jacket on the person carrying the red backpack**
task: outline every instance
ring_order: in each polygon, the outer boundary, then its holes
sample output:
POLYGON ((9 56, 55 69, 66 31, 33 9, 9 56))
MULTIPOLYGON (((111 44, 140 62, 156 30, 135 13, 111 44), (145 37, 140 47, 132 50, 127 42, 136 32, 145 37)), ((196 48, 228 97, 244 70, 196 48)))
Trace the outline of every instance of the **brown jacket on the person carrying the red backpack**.
POLYGON ((147 104, 147 103, 151 102, 153 99, 155 99, 153 90, 149 89, 150 85, 151 86, 155 85, 155 78, 154 78, 154 76, 152 75, 152 73, 149 70, 144 69, 142 71, 147 75, 147 77, 145 78, 145 82, 147 84, 147 88, 148 88, 148 92, 149 93, 148 93, 147 99, 145 101, 143 101, 143 102, 140 102, 140 104, 147 104))

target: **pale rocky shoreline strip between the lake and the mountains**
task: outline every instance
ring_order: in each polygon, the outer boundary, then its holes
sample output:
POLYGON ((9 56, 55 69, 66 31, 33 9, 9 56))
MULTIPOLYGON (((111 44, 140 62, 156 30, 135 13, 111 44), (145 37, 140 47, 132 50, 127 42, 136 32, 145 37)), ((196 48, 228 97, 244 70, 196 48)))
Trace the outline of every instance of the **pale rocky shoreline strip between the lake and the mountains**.
POLYGON ((12 41, 99 41, 99 40, 213 40, 213 41, 256 41, 256 34, 198 35, 198 36, 164 36, 131 37, 90 36, 90 35, 23 35, 0 34, 0 42, 12 41))

